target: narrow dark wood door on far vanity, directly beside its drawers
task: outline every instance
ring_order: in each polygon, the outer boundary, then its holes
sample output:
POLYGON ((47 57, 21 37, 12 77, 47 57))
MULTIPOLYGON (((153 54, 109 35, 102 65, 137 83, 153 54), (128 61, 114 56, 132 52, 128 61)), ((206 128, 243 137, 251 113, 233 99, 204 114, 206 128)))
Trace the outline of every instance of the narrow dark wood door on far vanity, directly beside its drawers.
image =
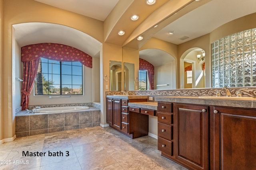
POLYGON ((113 99, 113 126, 121 129, 121 100, 113 99))

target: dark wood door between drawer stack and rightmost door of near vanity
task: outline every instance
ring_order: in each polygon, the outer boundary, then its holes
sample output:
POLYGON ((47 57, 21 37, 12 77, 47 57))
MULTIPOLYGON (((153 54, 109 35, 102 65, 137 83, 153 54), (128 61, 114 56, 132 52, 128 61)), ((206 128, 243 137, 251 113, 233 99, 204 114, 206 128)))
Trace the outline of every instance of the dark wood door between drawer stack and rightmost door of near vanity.
POLYGON ((191 169, 208 169, 208 107, 175 104, 175 158, 191 169))

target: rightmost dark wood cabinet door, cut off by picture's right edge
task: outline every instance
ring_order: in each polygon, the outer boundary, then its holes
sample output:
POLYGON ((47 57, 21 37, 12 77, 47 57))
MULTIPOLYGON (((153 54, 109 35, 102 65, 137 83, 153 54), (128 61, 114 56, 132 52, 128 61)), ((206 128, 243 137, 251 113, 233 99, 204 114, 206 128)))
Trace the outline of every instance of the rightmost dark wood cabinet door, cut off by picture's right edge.
POLYGON ((214 107, 214 169, 256 169, 256 110, 214 107))

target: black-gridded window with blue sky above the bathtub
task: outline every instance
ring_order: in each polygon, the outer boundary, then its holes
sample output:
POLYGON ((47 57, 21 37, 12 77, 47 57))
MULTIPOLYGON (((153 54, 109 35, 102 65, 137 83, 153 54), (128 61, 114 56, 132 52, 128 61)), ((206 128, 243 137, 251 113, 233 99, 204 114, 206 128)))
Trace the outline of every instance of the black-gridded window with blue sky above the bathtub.
POLYGON ((40 59, 35 80, 35 95, 83 94, 83 72, 80 62, 40 59))

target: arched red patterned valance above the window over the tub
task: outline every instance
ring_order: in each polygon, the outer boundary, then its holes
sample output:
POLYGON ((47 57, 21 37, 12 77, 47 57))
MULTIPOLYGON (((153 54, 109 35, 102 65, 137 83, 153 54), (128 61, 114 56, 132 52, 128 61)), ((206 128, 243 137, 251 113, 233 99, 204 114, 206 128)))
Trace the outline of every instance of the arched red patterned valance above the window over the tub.
POLYGON ((56 43, 40 43, 21 47, 21 61, 33 61, 43 57, 56 61, 80 61, 85 66, 92 68, 92 57, 83 51, 68 45, 56 43))

